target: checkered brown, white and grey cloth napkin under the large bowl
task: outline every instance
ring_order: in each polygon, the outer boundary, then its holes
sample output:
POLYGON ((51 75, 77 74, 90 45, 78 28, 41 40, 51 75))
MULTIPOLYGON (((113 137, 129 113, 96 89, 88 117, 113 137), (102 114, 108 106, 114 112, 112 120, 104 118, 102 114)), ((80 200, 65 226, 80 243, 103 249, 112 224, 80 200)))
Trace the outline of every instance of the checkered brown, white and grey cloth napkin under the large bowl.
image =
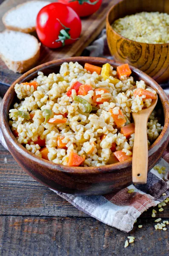
MULTIPOLYGON (((100 38, 86 48, 85 54, 104 57, 106 55, 106 57, 112 58, 108 56, 105 31, 100 38)), ((169 95, 169 86, 167 84, 163 86, 169 95)), ((0 142, 7 148, 1 131, 0 142)), ((142 212, 169 197, 169 148, 164 152, 158 166, 166 167, 165 174, 159 174, 157 170, 152 169, 148 174, 147 184, 131 185, 117 193, 76 196, 53 191, 86 214, 119 230, 129 232, 142 212), (129 189, 134 189, 134 192, 128 193, 129 189), (163 196, 163 193, 166 195, 163 196)))

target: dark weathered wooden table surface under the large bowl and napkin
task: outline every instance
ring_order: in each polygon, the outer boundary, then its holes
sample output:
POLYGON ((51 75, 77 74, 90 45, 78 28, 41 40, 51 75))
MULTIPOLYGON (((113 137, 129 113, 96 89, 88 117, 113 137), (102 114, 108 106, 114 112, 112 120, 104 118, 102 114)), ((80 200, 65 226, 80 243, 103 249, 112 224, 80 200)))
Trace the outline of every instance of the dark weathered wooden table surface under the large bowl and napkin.
MULTIPOLYGON (((169 226, 155 230, 151 214, 128 234, 109 227, 29 177, 0 145, 0 256, 169 256, 169 226), (127 236, 135 243, 125 249, 127 236)), ((156 216, 169 220, 169 204, 156 216)))

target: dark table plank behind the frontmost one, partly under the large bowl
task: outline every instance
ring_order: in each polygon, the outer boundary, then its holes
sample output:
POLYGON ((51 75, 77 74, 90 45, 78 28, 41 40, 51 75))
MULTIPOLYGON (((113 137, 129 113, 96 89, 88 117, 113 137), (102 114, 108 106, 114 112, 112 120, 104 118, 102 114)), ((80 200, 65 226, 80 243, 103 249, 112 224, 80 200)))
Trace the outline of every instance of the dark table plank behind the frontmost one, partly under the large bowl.
MULTIPOLYGON (((0 215, 89 217, 27 175, 0 145, 0 215)), ((169 218, 169 204, 156 218, 169 218)), ((141 218, 152 218, 152 208, 141 218)))

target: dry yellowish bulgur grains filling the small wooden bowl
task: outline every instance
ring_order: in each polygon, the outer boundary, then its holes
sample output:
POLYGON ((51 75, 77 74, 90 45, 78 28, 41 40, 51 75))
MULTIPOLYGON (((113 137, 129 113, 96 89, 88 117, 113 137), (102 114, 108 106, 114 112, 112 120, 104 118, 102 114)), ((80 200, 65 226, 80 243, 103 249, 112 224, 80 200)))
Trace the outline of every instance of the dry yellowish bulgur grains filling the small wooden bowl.
POLYGON ((112 28, 133 41, 147 44, 169 43, 169 15, 159 12, 140 12, 115 20, 112 28))

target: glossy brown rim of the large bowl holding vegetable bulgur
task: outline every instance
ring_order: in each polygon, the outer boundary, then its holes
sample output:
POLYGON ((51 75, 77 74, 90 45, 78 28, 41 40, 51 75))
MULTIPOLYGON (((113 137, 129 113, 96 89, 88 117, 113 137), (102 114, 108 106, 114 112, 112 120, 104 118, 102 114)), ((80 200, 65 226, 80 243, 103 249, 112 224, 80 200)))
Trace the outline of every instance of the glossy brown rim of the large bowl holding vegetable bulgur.
MULTIPOLYGON (((40 164, 41 166, 45 166, 47 168, 49 168, 50 170, 56 172, 56 171, 62 171, 62 172, 66 172, 66 173, 74 173, 74 174, 99 174, 100 171, 103 172, 123 172, 123 169, 129 167, 132 165, 132 159, 123 161, 123 162, 119 162, 119 163, 113 163, 110 165, 105 165, 105 166, 87 166, 87 167, 80 167, 80 166, 64 166, 61 164, 56 164, 53 163, 52 161, 48 161, 45 159, 42 159, 40 157, 35 156, 32 152, 28 151, 25 147, 23 147, 23 145, 19 144, 16 140, 16 138, 14 137, 14 135, 12 134, 12 131, 10 129, 9 126, 9 119, 8 119, 8 115, 5 115, 4 113, 6 113, 6 111, 8 110, 8 106, 11 105, 13 103, 10 102, 9 105, 7 105, 6 102, 8 102, 8 99, 10 100, 10 96, 12 97, 14 92, 14 85, 16 83, 25 81, 26 79, 29 79, 29 76, 31 76, 31 74, 33 73, 37 73, 38 71, 40 71, 40 69, 44 69, 47 67, 50 67, 51 65, 61 65, 63 62, 69 62, 69 61, 85 61, 85 62, 90 62, 90 63, 96 63, 99 64, 103 64, 108 62, 111 65, 115 65, 118 66, 121 63, 118 63, 114 60, 110 60, 110 59, 106 59, 106 58, 97 58, 97 57, 70 57, 70 58, 62 58, 62 59, 58 59, 58 60, 54 60, 54 61, 49 61, 46 62, 44 64, 41 64, 37 67, 32 68, 31 70, 27 71, 25 74, 23 74, 22 76, 20 76, 16 81, 14 81, 14 83, 11 84, 11 86, 9 87, 9 89, 7 90, 4 98, 3 98, 3 102, 1 105, 1 109, 0 109, 0 118, 1 118, 1 128, 2 128, 2 132, 4 135, 4 138, 6 140, 6 137, 10 138, 10 143, 11 146, 14 147, 21 155, 23 155, 24 157, 27 157, 28 159, 30 159, 33 162, 36 162, 38 164, 40 164)), ((160 100, 164 102, 165 108, 169 108, 169 99, 166 96, 165 92, 163 91, 163 89, 160 87, 160 85, 158 85, 157 82, 155 82, 151 77, 149 77, 148 75, 146 75, 145 73, 143 73, 142 71, 138 70, 135 67, 132 67, 129 65, 129 67, 131 68, 132 72, 134 72, 137 76, 142 76, 142 79, 145 81, 149 81, 152 84, 155 84, 156 86, 156 91, 159 95, 160 100)), ((45 71, 44 71, 45 72, 45 71)), ((140 79, 141 80, 141 79, 140 79)), ((164 109, 163 108, 163 111, 164 109)), ((155 151, 158 150, 158 148, 163 144, 163 140, 167 140, 169 137, 169 111, 165 112, 165 119, 164 119, 164 126, 163 126, 163 130, 161 131, 159 137, 157 138, 157 140, 155 140, 155 142, 150 146, 149 148, 149 157, 154 154, 155 151), (165 129, 164 129, 165 128, 165 129)), ((10 151, 10 148, 9 148, 10 151)))

